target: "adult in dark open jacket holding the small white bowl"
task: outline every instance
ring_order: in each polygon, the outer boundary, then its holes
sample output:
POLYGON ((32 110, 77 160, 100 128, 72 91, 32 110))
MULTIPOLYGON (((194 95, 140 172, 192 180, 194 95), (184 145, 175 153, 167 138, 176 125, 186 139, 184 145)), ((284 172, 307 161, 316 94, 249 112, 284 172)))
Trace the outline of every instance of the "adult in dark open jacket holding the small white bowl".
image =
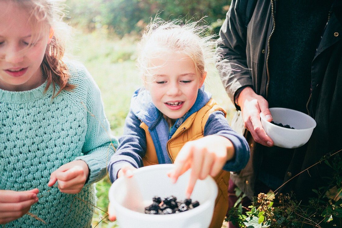
MULTIPOLYGON (((226 16, 218 69, 241 110, 232 126, 251 148, 246 168, 231 179, 252 199, 342 149, 342 1, 233 0, 226 16), (269 107, 312 116, 317 126, 309 142, 297 149, 273 146, 260 121, 260 112, 272 120, 269 107)), ((280 191, 293 190, 305 202, 325 175, 329 168, 316 165, 280 191)))

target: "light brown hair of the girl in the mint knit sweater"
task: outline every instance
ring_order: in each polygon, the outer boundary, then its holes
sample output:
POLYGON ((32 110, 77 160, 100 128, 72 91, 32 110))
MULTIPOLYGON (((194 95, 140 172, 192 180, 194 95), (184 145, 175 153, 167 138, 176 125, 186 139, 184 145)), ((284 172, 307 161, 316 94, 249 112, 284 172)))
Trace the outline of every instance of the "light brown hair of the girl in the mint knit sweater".
MULTIPOLYGON (((53 37, 45 50, 41 70, 47 77, 46 92, 53 86, 53 95, 56 97, 63 90, 72 90, 75 85, 69 84, 70 77, 67 65, 62 61, 65 51, 65 40, 69 38, 70 27, 62 21, 64 13, 60 0, 12 0, 19 7, 30 13, 29 24, 35 35, 30 43, 35 43, 42 32, 53 29, 53 37), (56 93, 56 85, 59 87, 56 93)), ((29 51, 29 50, 28 50, 29 51)))

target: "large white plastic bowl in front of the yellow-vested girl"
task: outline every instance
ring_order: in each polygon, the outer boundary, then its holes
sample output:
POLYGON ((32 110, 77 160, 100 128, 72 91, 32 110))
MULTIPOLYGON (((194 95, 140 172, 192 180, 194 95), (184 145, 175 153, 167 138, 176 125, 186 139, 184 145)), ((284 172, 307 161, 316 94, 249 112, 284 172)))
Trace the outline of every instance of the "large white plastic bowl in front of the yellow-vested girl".
POLYGON ((118 178, 109 189, 109 201, 116 211, 120 228, 208 228, 213 215, 218 188, 214 179, 208 176, 197 180, 191 195, 200 205, 194 209, 168 215, 144 214, 144 207, 152 203, 154 196, 161 198, 175 196, 185 199, 190 172, 179 177, 175 184, 167 173, 173 164, 159 164, 142 167, 133 172, 132 178, 118 178), (139 203, 142 198, 142 203, 139 203))

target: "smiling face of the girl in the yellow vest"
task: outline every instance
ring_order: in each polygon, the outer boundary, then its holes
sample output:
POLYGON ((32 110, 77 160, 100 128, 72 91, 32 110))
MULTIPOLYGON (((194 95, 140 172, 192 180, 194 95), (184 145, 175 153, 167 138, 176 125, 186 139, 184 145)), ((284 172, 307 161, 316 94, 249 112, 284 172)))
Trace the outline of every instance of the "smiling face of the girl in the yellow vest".
POLYGON ((153 69, 146 88, 152 102, 175 121, 194 105, 206 75, 198 75, 193 60, 183 53, 167 53, 152 59, 150 64, 153 69))

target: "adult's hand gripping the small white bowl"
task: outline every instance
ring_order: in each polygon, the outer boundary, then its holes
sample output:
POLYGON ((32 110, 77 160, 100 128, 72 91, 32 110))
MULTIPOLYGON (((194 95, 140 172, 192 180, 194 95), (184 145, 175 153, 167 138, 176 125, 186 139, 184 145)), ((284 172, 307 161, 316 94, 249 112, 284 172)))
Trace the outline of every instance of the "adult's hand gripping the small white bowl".
POLYGON ((246 87, 238 97, 238 105, 241 107, 244 126, 251 132, 255 142, 272 147, 273 140, 266 134, 260 120, 262 113, 267 121, 272 121, 267 100, 257 95, 251 87, 246 87))

